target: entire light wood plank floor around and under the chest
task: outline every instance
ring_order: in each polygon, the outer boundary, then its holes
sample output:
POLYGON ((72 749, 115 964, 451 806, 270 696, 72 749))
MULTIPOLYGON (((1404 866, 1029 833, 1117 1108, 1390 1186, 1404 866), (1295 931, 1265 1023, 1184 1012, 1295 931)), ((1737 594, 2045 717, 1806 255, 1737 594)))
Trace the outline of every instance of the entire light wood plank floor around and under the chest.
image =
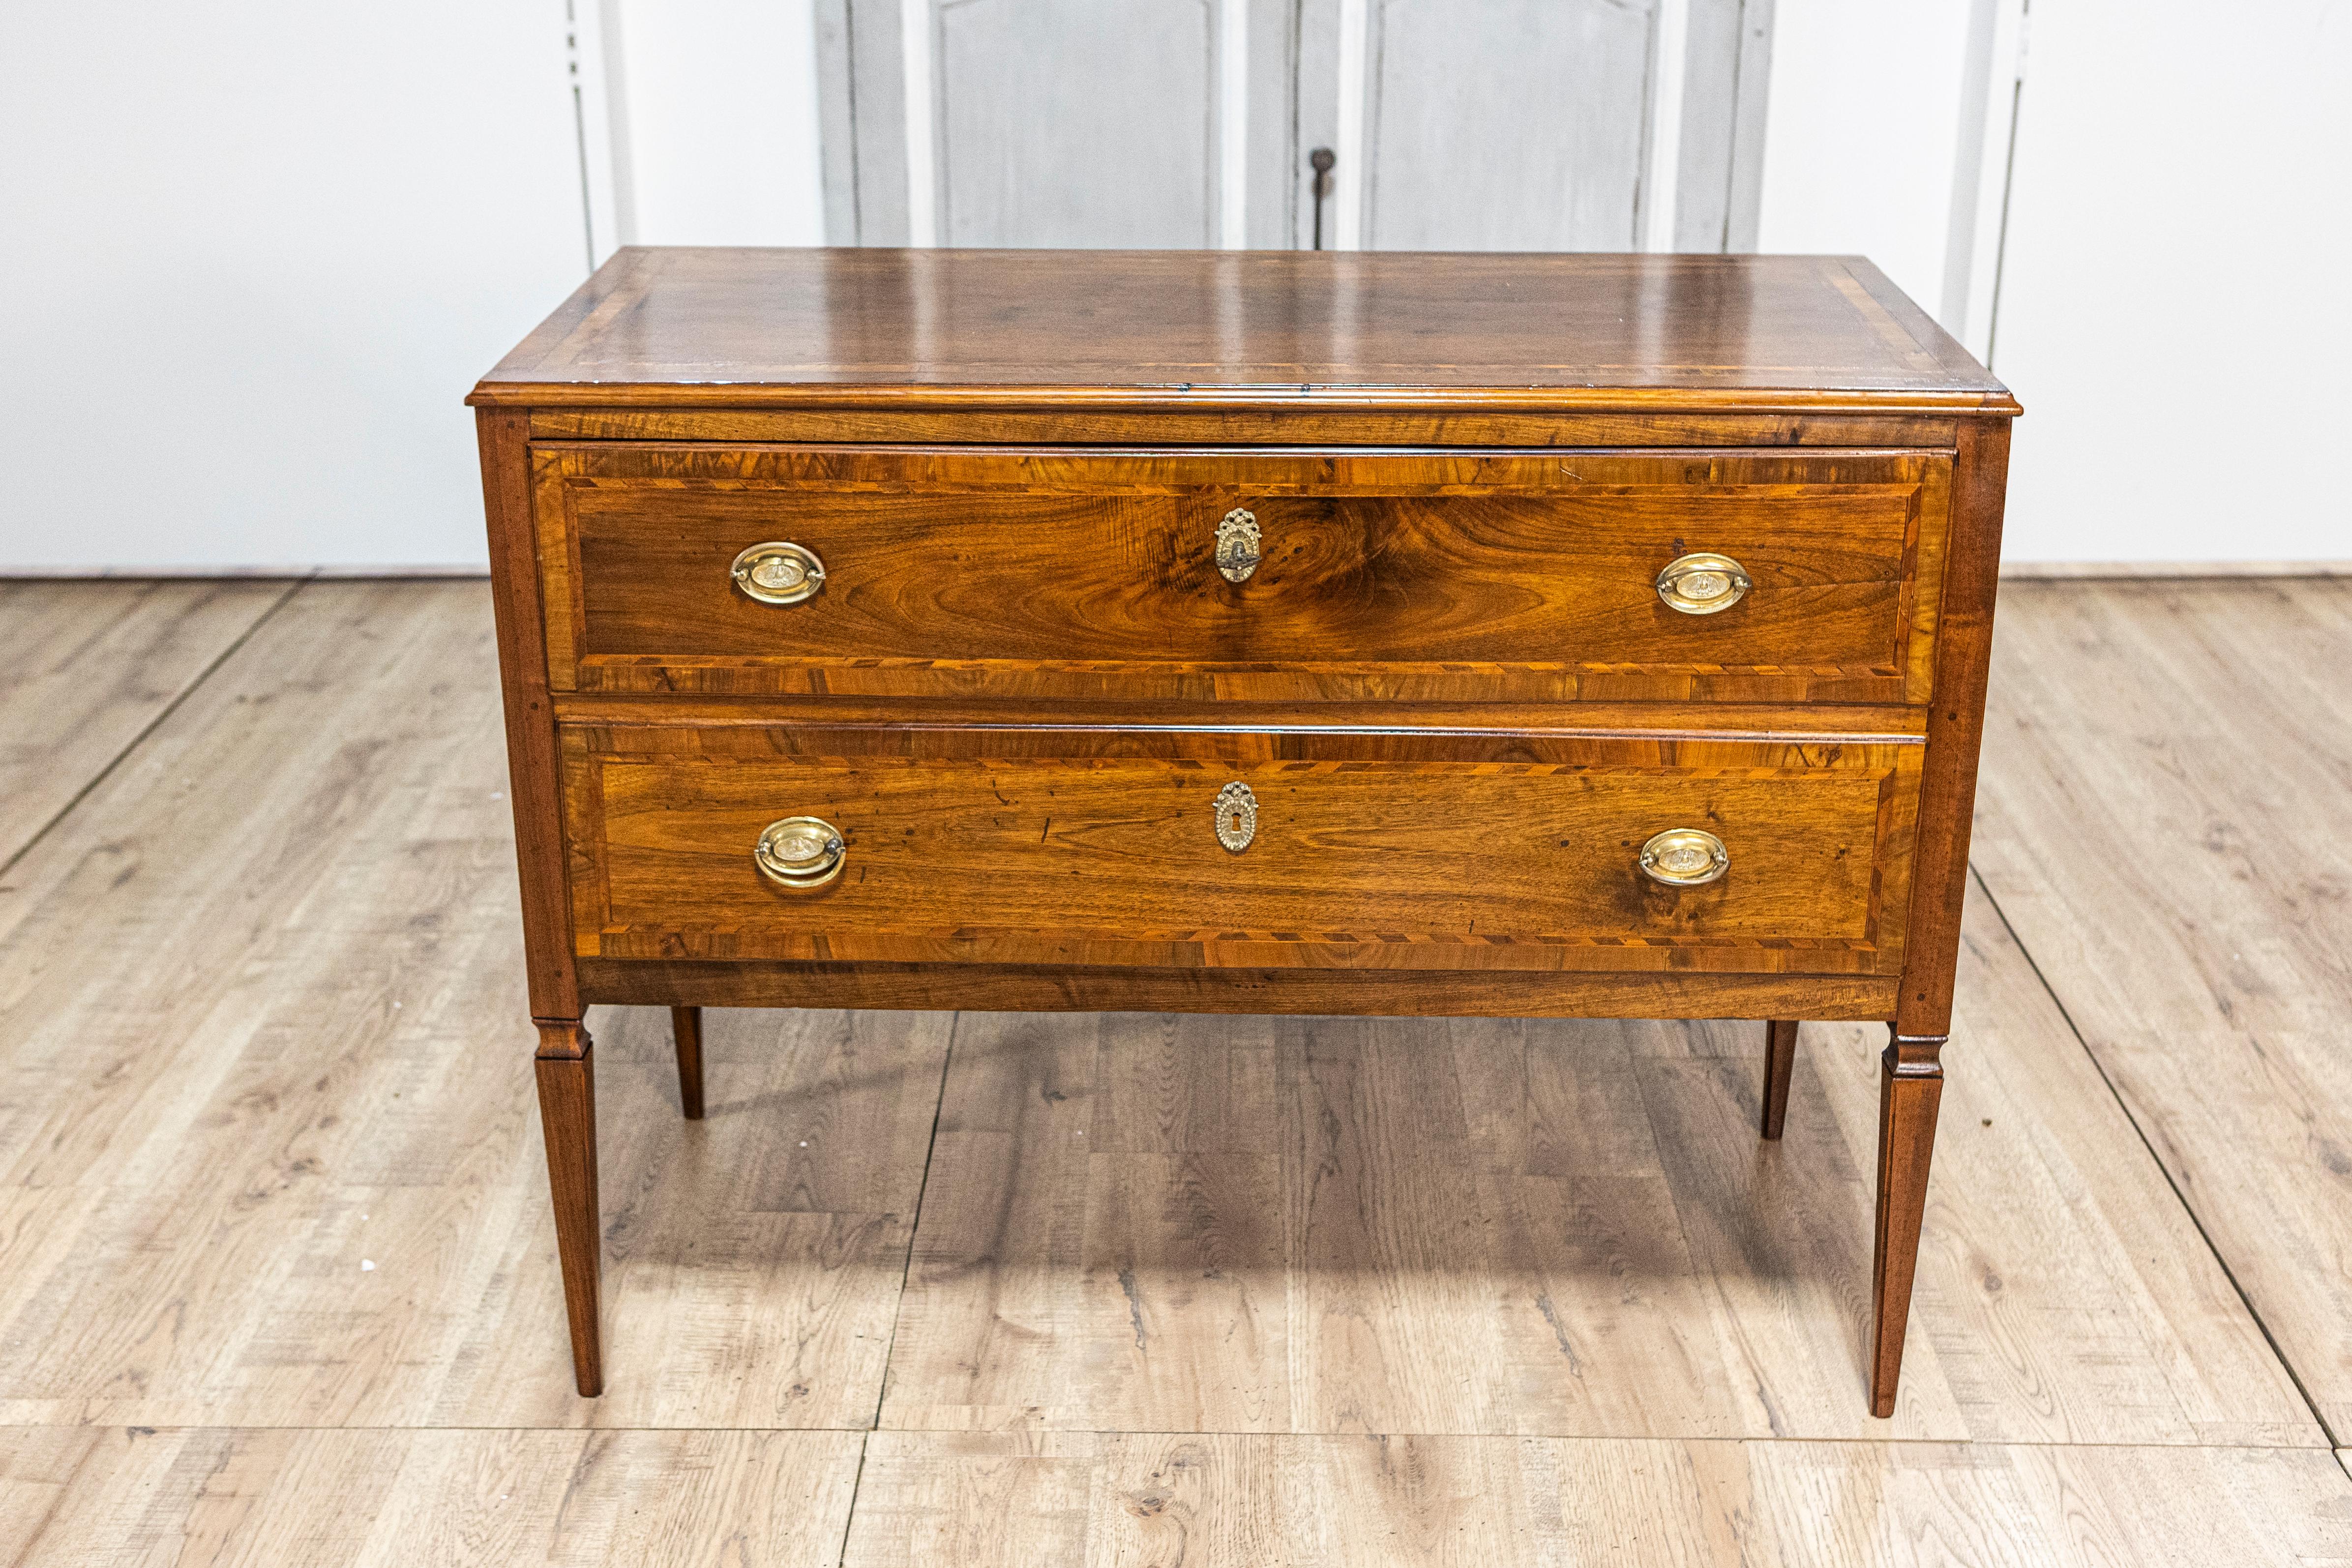
POLYGON ((1891 1422, 1842 1025, 602 1011, 581 1401, 487 590, 179 588, 0 689, 0 1566, 2352 1563, 2352 585, 2009 592, 1891 1422))

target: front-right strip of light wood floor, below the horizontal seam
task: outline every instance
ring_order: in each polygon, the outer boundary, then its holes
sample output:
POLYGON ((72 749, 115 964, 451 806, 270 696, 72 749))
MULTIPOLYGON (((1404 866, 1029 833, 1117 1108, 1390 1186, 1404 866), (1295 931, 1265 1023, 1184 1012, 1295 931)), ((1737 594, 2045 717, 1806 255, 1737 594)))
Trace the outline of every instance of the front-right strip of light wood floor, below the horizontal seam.
POLYGON ((2347 1502, 2314 1450, 882 1432, 842 1561, 2312 1568, 2347 1502))

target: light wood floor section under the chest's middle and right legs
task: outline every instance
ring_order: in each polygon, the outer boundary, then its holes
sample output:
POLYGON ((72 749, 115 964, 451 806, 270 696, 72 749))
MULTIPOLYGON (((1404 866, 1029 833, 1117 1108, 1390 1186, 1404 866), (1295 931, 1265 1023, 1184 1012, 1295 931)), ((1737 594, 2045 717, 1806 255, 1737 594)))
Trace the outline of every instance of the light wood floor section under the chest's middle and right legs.
POLYGON ((967 1013, 882 1425, 2324 1446, 1983 903, 1957 1030, 1886 1425, 1884 1027, 967 1013))

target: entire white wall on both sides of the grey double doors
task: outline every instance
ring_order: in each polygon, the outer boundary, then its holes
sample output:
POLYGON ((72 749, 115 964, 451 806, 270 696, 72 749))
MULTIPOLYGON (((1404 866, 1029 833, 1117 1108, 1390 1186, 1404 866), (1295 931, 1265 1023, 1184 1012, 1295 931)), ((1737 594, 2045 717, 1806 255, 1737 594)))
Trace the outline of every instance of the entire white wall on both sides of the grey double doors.
MULTIPOLYGON (((588 230, 821 242, 811 0, 572 5, 0 7, 0 571, 480 564, 459 400, 588 230)), ((2352 557, 2352 5, 2034 0, 1997 268, 2023 9, 1778 0, 1762 249, 1980 355, 1999 275, 2011 559, 2352 557)))

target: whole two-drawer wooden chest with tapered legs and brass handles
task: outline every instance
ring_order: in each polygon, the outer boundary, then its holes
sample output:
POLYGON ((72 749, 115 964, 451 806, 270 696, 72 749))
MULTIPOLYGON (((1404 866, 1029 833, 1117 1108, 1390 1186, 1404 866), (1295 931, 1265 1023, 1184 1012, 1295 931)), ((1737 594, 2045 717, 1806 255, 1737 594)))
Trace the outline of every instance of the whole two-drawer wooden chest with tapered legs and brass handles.
POLYGON ((1891 1025, 1891 1413, 2016 402, 1809 256, 621 252, 475 388, 583 1009, 1891 1025))

